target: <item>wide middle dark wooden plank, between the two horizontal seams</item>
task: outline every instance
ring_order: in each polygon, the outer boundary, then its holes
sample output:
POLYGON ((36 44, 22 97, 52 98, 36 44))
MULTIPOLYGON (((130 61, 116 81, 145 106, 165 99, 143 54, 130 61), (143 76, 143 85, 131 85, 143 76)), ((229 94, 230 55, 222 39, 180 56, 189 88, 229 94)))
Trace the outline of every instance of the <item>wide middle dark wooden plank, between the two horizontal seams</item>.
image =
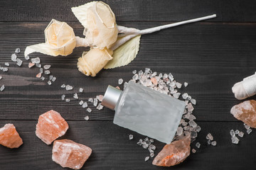
MULTIPOLYGON (((132 79, 132 70, 151 68, 156 72, 171 72, 177 81, 188 82, 182 92, 196 98, 198 105, 195 115, 198 120, 235 121, 230 108, 239 103, 231 91, 235 82, 255 72, 256 64, 256 24, 194 23, 159 33, 143 35, 137 58, 125 67, 107 69, 97 77, 85 77, 76 68, 77 58, 87 48, 79 47, 67 57, 50 57, 33 53, 31 57, 41 57, 42 64, 51 64, 50 72, 57 80, 48 86, 47 81, 36 78, 39 69, 28 69, 28 61, 23 59, 27 45, 43 42, 43 29, 48 23, 0 23, 0 65, 10 62, 9 72, 1 72, 6 89, 0 96, 1 120, 37 120, 38 115, 50 109, 59 111, 68 120, 82 120, 88 114, 73 98, 80 87, 85 92, 80 99, 104 94, 107 85, 117 86, 119 78, 132 79), (18 31, 16 31, 18 29, 18 31), (11 62, 11 54, 21 47, 18 57, 23 66, 11 62), (62 84, 75 86, 73 91, 61 89, 62 84), (73 98, 70 103, 61 101, 66 94, 73 98)), ((81 35, 82 26, 69 22, 75 33, 81 35)), ((124 22, 132 27, 151 27, 156 23, 124 22)), ((46 76, 47 77, 47 76, 46 76)), ((90 106, 91 107, 91 106, 90 106)), ((107 108, 89 114, 93 120, 112 120, 114 112, 107 108)))

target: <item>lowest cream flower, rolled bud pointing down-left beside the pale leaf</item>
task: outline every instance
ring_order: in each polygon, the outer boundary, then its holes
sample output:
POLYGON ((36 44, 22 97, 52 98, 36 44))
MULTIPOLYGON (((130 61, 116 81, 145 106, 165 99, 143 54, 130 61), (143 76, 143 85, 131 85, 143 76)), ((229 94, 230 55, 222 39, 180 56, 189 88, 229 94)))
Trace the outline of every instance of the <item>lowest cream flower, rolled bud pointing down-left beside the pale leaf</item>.
POLYGON ((78 58, 78 70, 86 76, 95 77, 107 62, 112 60, 113 51, 107 48, 100 50, 91 48, 89 52, 83 52, 78 58))

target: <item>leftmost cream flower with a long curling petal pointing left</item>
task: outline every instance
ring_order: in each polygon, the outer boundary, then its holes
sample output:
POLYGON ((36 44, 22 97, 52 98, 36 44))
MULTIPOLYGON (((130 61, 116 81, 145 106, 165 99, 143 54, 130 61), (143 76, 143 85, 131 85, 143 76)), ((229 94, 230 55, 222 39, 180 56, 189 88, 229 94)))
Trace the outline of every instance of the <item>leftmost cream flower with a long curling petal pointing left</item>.
POLYGON ((25 56, 32 52, 41 52, 46 55, 70 55, 76 45, 75 33, 73 28, 65 22, 55 19, 50 21, 46 30, 46 43, 31 45, 26 47, 25 56))

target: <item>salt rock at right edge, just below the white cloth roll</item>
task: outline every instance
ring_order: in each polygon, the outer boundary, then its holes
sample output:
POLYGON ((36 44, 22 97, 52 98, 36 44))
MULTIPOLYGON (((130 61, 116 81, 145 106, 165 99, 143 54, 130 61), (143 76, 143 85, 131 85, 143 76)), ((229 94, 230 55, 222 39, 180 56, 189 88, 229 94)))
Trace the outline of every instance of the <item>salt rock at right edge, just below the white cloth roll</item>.
POLYGON ((252 128, 256 128, 256 101, 244 101, 231 108, 230 113, 238 120, 252 128))

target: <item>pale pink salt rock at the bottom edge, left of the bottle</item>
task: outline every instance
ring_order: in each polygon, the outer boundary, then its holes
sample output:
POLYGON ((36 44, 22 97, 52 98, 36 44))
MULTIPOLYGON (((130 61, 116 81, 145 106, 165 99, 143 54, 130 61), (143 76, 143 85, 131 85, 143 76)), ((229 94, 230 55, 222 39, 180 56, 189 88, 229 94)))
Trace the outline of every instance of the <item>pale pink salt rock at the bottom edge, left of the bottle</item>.
POLYGON ((55 140, 52 159, 63 168, 81 169, 90 157, 92 149, 72 140, 55 140))

